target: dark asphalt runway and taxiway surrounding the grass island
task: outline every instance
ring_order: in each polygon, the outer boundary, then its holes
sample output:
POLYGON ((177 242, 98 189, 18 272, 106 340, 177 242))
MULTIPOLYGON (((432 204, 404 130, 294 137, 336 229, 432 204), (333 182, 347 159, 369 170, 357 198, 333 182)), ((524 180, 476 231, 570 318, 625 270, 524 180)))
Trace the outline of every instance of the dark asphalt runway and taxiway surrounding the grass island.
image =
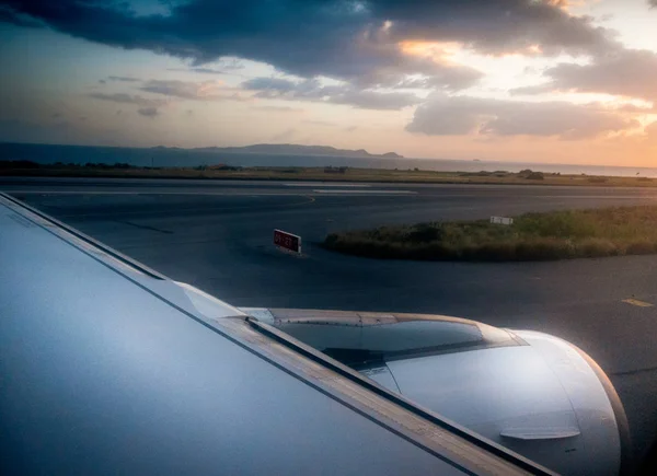
POLYGON ((0 190, 233 305, 436 313, 557 335, 608 372, 637 454, 655 436, 657 256, 420 263, 318 243, 383 224, 657 204, 657 189, 0 178, 0 190), (273 246, 275 228, 302 237, 302 257, 273 246))

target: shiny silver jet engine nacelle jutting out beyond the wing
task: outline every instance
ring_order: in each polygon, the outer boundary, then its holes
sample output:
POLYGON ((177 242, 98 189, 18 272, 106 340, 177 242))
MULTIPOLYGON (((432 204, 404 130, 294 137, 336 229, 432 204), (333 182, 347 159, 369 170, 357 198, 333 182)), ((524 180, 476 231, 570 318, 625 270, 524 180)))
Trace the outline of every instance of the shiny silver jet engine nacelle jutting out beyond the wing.
POLYGON ((553 471, 619 474, 626 464, 618 394, 565 340, 437 315, 243 311, 553 471))

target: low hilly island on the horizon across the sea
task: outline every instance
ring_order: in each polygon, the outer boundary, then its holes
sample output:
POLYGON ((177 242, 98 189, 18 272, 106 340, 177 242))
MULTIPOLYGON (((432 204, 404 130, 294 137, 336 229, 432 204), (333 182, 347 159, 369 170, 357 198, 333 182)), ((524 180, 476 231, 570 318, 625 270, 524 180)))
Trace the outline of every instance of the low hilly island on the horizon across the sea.
MULTIPOLYGON (((168 149, 162 146, 153 149, 168 149)), ((384 154, 372 154, 365 149, 348 150, 336 149, 328 146, 298 146, 293 143, 257 143, 246 147, 204 147, 193 149, 195 151, 208 152, 230 152, 230 153, 262 153, 272 155, 328 155, 328 156, 349 156, 349 158, 384 158, 384 159, 403 159, 395 152, 384 154)))

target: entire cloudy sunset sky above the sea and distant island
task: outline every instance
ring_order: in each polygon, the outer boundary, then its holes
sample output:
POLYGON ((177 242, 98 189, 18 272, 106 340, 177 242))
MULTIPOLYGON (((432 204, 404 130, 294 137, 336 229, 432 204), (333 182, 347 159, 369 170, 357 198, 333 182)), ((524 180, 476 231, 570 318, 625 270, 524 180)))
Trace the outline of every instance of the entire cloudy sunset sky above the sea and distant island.
POLYGON ((657 0, 0 0, 0 141, 657 166, 657 0))

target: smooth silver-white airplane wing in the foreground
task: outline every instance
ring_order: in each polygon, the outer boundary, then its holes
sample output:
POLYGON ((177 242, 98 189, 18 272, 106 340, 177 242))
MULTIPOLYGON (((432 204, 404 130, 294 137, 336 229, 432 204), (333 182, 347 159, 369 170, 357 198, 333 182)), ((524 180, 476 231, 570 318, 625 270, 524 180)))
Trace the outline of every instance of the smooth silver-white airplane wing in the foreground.
POLYGON ((2 474, 551 474, 3 194, 0 283, 2 474))

